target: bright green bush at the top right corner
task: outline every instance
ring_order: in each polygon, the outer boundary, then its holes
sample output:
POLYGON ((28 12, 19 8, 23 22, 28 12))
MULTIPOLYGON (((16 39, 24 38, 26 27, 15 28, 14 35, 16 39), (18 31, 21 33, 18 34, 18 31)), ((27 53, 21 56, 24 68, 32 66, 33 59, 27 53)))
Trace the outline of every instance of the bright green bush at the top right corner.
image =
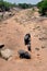
POLYGON ((37 7, 39 8, 39 13, 42 15, 47 15, 47 0, 43 0, 37 4, 37 7))

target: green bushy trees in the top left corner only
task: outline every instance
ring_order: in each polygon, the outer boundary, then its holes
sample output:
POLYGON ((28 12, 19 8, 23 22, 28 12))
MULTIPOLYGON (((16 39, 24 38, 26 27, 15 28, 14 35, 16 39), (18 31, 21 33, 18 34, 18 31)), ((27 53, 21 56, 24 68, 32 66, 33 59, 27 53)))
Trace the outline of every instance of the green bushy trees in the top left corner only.
POLYGON ((10 3, 3 0, 0 0, 0 9, 2 11, 9 11, 11 7, 15 7, 15 3, 10 3))

